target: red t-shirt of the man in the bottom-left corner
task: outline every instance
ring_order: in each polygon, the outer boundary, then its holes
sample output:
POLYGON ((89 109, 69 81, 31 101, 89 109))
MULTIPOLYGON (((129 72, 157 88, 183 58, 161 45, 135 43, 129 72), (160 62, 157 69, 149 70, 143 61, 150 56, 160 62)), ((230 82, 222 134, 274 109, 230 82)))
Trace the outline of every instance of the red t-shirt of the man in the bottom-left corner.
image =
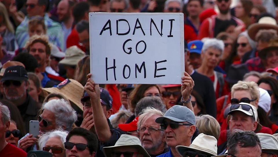
POLYGON ((26 157, 27 153, 22 149, 8 143, 3 150, 0 151, 0 156, 5 157, 26 157))

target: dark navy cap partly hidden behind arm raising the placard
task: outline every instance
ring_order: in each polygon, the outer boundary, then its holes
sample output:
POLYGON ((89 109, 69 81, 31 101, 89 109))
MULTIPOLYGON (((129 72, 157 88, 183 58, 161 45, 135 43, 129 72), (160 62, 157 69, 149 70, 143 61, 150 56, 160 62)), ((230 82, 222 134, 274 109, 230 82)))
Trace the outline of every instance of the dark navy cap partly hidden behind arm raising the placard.
MULTIPOLYGON (((89 94, 86 91, 84 91, 81 101, 85 102, 89 99, 90 99, 89 94)), ((101 102, 101 104, 106 105, 109 108, 112 108, 113 99, 112 99, 111 95, 109 94, 108 90, 101 88, 101 87, 100 87, 100 102, 101 102)))

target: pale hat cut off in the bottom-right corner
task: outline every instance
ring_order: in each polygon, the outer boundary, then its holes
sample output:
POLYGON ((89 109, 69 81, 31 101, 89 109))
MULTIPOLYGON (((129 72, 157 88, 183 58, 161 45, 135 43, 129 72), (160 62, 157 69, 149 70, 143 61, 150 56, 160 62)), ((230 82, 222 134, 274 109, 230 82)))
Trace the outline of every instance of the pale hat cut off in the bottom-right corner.
POLYGON ((275 136, 264 133, 257 133, 256 135, 258 135, 260 139, 261 150, 278 155, 278 140, 275 136))

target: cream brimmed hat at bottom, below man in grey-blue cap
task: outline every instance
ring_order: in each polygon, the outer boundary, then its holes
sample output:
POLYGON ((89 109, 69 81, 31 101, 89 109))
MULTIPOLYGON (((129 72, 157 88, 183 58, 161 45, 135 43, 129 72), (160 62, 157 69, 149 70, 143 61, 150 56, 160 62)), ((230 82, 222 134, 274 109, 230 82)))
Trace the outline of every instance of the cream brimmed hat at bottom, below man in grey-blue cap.
POLYGON ((180 156, 183 156, 184 152, 188 150, 207 154, 208 156, 215 156, 217 155, 217 139, 214 136, 201 133, 189 147, 178 145, 176 150, 180 156))

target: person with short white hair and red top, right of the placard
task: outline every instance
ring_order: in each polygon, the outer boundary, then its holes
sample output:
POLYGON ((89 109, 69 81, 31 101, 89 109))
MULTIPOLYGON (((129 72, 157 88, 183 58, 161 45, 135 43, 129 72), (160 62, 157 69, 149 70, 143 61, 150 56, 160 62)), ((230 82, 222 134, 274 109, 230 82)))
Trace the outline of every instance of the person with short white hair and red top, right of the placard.
POLYGON ((202 64, 196 69, 198 73, 205 75, 213 82, 216 98, 229 93, 228 84, 224 81, 224 75, 214 71, 214 68, 219 63, 224 51, 224 43, 222 40, 215 38, 205 39, 201 52, 202 64))

